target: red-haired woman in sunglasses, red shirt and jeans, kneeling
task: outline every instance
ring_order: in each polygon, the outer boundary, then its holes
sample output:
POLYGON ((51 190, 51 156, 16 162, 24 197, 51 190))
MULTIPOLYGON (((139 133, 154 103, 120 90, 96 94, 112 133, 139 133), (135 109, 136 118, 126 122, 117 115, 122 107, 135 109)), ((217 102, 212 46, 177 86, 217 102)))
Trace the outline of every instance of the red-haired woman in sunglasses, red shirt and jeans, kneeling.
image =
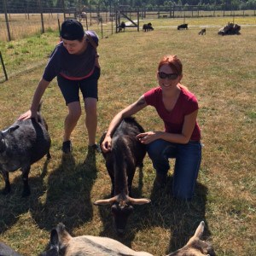
POLYGON ((156 171, 154 183, 160 187, 166 183, 170 169, 169 158, 175 159, 172 195, 191 200, 201 165, 201 131, 196 121, 198 102, 193 93, 180 84, 183 65, 176 55, 166 55, 159 63, 159 86, 148 90, 137 102, 117 113, 108 126, 102 142, 102 151, 111 150, 111 136, 122 119, 153 106, 163 120, 164 131, 147 131, 137 135, 146 144, 148 156, 156 171))

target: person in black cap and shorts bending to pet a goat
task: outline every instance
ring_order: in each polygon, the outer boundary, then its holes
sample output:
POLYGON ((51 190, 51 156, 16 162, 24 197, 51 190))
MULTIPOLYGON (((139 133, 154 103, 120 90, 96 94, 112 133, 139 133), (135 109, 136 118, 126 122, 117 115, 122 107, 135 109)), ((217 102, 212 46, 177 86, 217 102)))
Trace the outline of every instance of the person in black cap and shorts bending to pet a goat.
POLYGON ((56 45, 44 69, 32 98, 31 108, 19 119, 37 119, 37 110, 44 91, 56 77, 61 93, 67 104, 68 113, 64 122, 62 151, 72 151, 71 134, 81 116, 79 91, 84 99, 85 126, 88 131, 89 149, 100 151, 96 144, 98 79, 101 68, 96 47, 98 37, 95 32, 84 32, 78 20, 65 20, 61 25, 61 42, 56 45))

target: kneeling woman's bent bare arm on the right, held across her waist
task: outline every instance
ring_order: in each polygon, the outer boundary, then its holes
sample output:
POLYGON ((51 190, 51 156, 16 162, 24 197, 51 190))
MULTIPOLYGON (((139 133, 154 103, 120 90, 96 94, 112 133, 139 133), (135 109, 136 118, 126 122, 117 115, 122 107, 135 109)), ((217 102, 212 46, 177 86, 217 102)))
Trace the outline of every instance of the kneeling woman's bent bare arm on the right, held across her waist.
POLYGON ((157 139, 163 139, 171 143, 180 143, 186 144, 189 143, 192 132, 195 128, 195 121, 197 117, 198 110, 195 110, 193 113, 189 113, 185 116, 183 131, 181 134, 169 133, 165 131, 148 131, 140 133, 137 135, 137 138, 141 143, 148 144, 154 142, 157 139))

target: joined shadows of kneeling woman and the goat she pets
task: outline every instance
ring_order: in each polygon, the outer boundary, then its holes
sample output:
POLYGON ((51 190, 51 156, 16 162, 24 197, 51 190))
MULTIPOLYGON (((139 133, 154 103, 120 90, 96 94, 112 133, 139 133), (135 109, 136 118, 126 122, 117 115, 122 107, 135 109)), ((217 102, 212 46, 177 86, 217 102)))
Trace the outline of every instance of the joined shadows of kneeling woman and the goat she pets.
MULTIPOLYGON (((168 177, 165 188, 156 188, 154 184, 152 186, 151 204, 134 206, 134 212, 128 219, 126 232, 123 236, 118 236, 113 228, 110 206, 100 207, 104 227, 101 236, 111 237, 131 247, 131 242, 139 230, 148 229, 148 227, 160 227, 170 230, 170 241, 166 241, 167 254, 183 247, 194 235, 202 220, 206 223, 204 238, 211 235, 205 218, 207 188, 204 185, 196 183, 195 195, 191 201, 178 201, 172 197, 172 176, 168 177)), ((142 189, 143 170, 140 169, 138 187, 132 187, 133 197, 142 197, 142 189)), ((110 194, 106 198, 109 196, 110 194)), ((155 234, 155 236, 157 235, 155 234)))

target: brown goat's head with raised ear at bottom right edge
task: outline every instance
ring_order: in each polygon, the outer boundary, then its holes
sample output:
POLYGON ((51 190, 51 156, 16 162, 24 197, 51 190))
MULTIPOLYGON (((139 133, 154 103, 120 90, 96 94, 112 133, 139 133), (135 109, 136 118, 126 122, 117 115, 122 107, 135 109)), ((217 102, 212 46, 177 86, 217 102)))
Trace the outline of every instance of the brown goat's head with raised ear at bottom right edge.
POLYGON ((205 223, 204 221, 201 221, 201 224, 199 224, 195 230, 195 235, 189 239, 187 244, 167 256, 215 256, 216 254, 214 253, 212 246, 207 241, 201 240, 204 228, 205 223))

